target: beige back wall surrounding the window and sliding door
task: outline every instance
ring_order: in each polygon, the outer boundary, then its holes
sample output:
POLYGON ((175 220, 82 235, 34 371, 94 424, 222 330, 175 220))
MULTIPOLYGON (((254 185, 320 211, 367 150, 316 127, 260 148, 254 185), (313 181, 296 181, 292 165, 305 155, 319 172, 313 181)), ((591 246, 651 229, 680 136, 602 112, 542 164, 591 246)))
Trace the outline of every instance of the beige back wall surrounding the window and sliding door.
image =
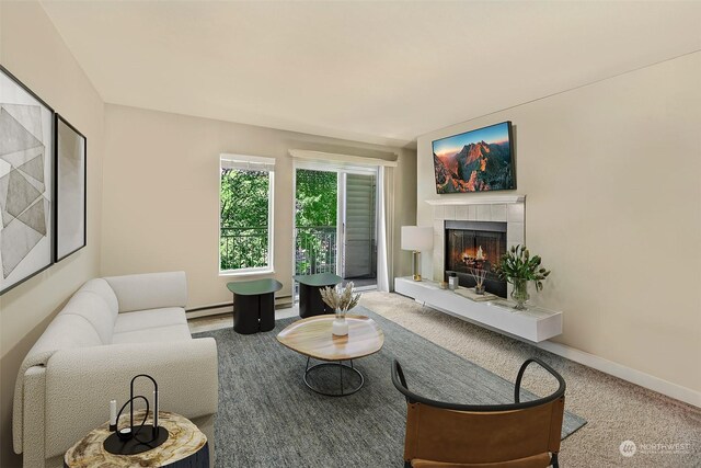
MULTIPOLYGON (((413 150, 338 140, 135 107, 105 111, 103 275, 184 270, 188 307, 231 301, 219 276, 219 155, 276 159, 274 266, 291 294, 292 159, 289 149, 395 158, 395 224, 413 224, 416 213, 416 153, 413 150)), ((399 250, 394 269, 411 270, 399 250)))

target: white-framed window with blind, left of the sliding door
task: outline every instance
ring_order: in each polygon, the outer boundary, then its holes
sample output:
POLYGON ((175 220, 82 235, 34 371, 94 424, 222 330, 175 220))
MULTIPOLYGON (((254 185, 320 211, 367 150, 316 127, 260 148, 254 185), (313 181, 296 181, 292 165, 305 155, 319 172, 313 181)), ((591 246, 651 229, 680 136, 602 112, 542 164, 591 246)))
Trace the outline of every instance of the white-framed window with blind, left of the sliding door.
POLYGON ((221 155, 219 173, 219 273, 272 272, 275 160, 221 155))

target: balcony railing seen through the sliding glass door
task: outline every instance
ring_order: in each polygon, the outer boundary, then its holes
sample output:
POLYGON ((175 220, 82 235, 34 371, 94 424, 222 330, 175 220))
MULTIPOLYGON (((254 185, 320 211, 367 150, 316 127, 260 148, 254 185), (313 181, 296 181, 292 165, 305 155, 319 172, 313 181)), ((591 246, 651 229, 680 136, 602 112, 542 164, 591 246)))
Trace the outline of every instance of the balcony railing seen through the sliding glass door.
POLYGON ((295 230, 295 272, 336 273, 336 227, 306 226, 295 230))

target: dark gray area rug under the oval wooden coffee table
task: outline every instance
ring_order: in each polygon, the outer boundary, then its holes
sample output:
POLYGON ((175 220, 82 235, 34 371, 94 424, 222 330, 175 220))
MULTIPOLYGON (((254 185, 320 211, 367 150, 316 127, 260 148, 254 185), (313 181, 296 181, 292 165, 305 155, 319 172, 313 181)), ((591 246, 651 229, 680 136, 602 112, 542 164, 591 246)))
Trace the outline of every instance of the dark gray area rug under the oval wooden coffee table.
MULTIPOLYGON (((217 467, 402 467, 406 403, 390 377, 394 358, 420 395, 460 403, 513 402, 513 381, 363 307, 353 312, 378 322, 384 346, 354 361, 365 386, 342 398, 308 389, 302 381, 307 357, 275 338, 296 318, 278 320, 266 333, 223 329, 195 335, 215 338, 219 353, 217 467)), ((315 375, 312 384, 337 386, 338 373, 332 370, 315 375)), ((355 384, 350 373, 344 376, 345 385, 355 384)), ((521 398, 536 397, 525 391, 521 398)), ((565 411, 563 438, 585 423, 565 411)))

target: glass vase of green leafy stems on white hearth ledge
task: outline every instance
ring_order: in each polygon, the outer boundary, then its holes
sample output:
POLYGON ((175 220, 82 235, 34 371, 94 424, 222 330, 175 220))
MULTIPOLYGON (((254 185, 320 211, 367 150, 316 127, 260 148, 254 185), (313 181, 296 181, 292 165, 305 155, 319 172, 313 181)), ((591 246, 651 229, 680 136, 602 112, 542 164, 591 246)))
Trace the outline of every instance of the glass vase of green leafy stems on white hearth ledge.
POLYGON ((502 279, 506 279, 514 285, 512 298, 516 301, 514 306, 517 310, 526 309, 526 301, 530 298, 528 294, 528 282, 536 283, 536 290, 542 290, 543 281, 550 275, 550 271, 541 266, 539 255, 530 256, 526 246, 515 246, 502 255, 497 265, 497 273, 502 279))

